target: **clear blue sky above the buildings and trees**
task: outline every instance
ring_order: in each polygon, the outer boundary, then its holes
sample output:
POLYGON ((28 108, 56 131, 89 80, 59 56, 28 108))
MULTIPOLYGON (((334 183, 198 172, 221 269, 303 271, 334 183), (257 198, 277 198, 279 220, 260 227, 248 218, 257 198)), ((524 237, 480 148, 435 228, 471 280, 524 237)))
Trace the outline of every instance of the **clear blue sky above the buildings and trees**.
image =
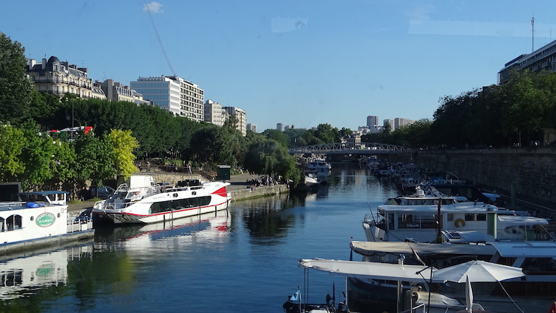
POLYGON ((259 132, 432 119, 439 98, 495 84, 552 38, 554 1, 3 1, 0 31, 126 85, 177 75, 259 132), (148 8, 148 10, 147 10, 148 8), (158 34, 158 36, 157 36, 158 34))

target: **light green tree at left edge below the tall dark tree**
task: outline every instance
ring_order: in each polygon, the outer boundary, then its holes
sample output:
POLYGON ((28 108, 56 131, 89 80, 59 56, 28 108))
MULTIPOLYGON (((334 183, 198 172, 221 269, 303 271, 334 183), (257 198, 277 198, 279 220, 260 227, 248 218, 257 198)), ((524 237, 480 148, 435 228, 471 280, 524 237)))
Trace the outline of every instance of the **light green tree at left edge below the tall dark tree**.
POLYGON ((0 181, 9 182, 23 173, 21 154, 24 146, 23 130, 0 123, 0 181))

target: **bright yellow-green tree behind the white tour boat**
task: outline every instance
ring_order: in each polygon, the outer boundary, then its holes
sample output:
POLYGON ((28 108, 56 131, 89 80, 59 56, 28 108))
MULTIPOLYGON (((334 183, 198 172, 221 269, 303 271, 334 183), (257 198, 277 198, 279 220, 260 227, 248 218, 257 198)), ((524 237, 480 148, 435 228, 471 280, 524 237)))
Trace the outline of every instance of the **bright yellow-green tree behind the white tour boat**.
POLYGON ((106 139, 113 147, 113 164, 116 175, 122 176, 123 180, 126 180, 133 172, 137 171, 134 164, 136 156, 133 155, 133 150, 139 146, 137 139, 131 136, 131 130, 119 129, 111 130, 106 139))

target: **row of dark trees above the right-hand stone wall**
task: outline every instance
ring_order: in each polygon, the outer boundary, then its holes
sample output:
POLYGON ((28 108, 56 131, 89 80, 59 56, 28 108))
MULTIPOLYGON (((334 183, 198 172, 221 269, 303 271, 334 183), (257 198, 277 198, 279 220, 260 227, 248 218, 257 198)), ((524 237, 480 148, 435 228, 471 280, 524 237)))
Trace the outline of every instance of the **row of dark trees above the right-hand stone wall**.
POLYGON ((364 135, 364 142, 383 142, 421 148, 522 146, 547 142, 546 133, 556 133, 556 73, 514 71, 509 81, 459 96, 440 99, 432 121, 391 132, 364 135))

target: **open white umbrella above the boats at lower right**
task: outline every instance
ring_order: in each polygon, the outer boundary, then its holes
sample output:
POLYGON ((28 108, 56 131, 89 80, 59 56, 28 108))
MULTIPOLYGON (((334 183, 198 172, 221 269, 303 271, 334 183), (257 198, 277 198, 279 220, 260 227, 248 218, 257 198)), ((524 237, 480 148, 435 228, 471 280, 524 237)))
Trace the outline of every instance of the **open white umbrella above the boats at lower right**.
POLYGON ((500 282, 521 276, 525 276, 525 274, 519 267, 508 267, 479 260, 457 264, 432 272, 432 278, 448 280, 450 282, 466 282, 467 277, 470 282, 500 282))

